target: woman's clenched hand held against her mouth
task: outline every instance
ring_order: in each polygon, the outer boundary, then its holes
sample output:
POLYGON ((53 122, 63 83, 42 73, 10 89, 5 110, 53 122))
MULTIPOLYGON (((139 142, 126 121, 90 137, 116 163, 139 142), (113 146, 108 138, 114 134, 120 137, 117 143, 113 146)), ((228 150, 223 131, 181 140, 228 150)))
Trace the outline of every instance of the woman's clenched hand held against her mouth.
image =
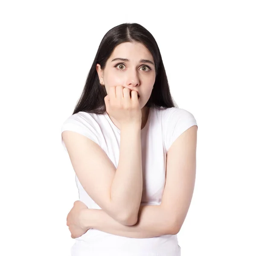
POLYGON ((137 91, 112 86, 104 100, 107 113, 116 119, 121 127, 132 123, 141 125, 142 114, 137 91))

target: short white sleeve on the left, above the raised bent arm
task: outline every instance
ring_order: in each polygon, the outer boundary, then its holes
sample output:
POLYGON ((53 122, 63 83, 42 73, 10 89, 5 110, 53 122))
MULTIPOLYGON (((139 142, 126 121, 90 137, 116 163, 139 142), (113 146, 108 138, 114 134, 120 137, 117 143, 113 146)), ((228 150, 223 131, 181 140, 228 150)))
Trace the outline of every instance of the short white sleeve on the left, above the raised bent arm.
MULTIPOLYGON (((96 131, 96 121, 90 116, 81 113, 76 113, 70 116, 61 126, 61 134, 63 131, 75 131, 81 135, 93 140, 100 146, 99 134, 96 131)), ((61 136, 61 143, 67 151, 66 145, 61 136)))

